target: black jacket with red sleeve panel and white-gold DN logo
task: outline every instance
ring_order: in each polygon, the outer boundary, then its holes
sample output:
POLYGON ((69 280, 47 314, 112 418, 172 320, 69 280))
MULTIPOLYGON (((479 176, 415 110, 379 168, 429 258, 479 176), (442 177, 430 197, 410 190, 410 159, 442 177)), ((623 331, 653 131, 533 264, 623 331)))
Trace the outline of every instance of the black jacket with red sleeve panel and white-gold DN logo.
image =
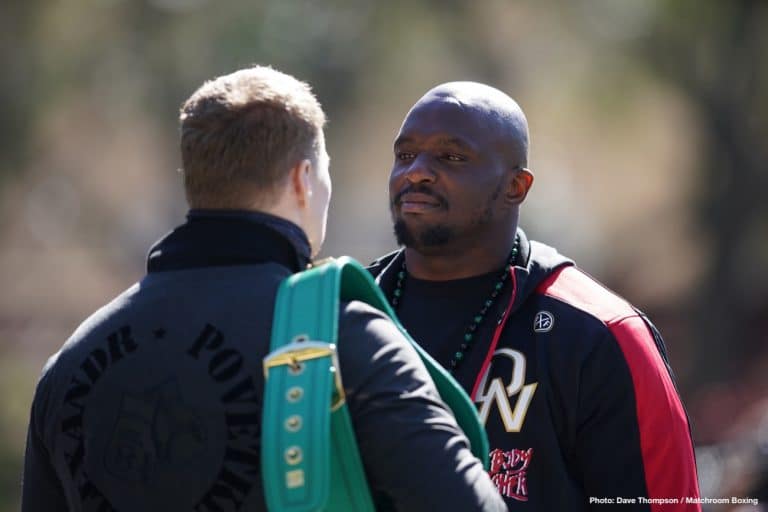
MULTIPOLYGON (((623 511, 659 510, 649 498, 700 510, 685 503, 699 493, 693 446, 658 331, 572 261, 519 235, 511 286, 493 312, 502 320, 456 373, 485 422, 490 474, 510 510, 612 510, 619 498, 629 500, 623 511)), ((403 258, 370 267, 388 297, 403 258)), ((429 300, 411 298, 416 311, 429 300)), ((425 332, 413 311, 405 328, 425 332)), ((445 361, 446 342, 425 338, 416 341, 445 361)))

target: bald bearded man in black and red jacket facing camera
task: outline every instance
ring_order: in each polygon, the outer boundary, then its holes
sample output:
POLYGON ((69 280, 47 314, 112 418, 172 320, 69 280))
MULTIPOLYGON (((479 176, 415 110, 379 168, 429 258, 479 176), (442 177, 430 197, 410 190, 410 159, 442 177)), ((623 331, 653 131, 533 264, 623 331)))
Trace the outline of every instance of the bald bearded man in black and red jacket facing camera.
POLYGON ((513 510, 699 510, 686 412, 650 321, 518 228, 528 126, 492 87, 440 85, 394 143, 398 243, 371 272, 465 387, 513 510))

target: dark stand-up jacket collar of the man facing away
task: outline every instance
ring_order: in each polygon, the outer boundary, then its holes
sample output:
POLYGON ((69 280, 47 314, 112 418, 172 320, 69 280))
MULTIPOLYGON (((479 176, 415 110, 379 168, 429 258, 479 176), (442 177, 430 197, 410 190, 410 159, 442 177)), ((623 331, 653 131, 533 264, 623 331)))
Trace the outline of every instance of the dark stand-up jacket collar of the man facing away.
POLYGON ((310 262, 296 224, 263 212, 190 210, 187 221, 149 250, 147 272, 275 262, 293 272, 310 262))

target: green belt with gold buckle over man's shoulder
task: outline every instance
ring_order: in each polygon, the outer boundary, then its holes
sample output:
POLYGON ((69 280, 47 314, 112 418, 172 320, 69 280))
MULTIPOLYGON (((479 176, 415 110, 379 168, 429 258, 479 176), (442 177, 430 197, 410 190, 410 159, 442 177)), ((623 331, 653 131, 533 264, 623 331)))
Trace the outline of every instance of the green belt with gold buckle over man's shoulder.
MULTIPOLYGON (((270 511, 373 511, 336 357, 339 303, 383 311, 411 340, 371 275, 352 258, 330 260, 280 285, 264 358, 261 469, 270 511)), ((459 384, 414 348, 488 469, 488 438, 459 384)))

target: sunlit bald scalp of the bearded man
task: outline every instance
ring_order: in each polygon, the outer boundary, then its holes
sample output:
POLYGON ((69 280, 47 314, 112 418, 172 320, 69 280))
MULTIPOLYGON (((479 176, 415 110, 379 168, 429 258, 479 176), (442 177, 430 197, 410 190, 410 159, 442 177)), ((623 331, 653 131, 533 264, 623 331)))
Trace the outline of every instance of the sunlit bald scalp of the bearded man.
POLYGON ((453 104, 471 113, 497 137, 514 167, 528 165, 528 120, 515 100, 506 93, 479 82, 446 82, 429 91, 416 102, 406 116, 423 107, 453 104))

